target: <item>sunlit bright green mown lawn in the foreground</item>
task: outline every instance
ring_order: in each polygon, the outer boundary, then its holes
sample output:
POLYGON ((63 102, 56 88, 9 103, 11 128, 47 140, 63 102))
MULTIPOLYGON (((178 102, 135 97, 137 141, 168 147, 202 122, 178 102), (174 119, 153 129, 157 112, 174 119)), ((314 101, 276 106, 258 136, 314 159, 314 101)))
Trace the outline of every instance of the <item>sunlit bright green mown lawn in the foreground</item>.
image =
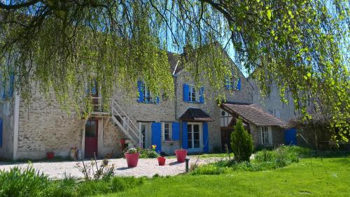
POLYGON ((350 157, 301 159, 269 171, 156 177, 109 196, 350 196, 350 157))

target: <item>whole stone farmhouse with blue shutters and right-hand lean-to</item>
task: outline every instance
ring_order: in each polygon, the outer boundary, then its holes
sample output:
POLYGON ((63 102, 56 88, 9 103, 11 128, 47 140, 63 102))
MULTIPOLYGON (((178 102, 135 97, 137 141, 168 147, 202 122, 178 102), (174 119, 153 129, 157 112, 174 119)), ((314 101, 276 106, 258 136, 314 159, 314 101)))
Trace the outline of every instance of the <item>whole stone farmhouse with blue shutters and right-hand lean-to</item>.
POLYGON ((223 88, 227 99, 219 105, 211 99, 211 87, 195 88, 179 61, 181 54, 169 52, 168 57, 175 99, 153 98, 139 80, 135 87, 138 98, 116 89, 110 108, 102 110, 96 89, 92 98, 96 106, 87 119, 80 119, 77 113, 68 115, 55 99, 48 101, 39 92, 29 103, 23 101, 11 78, 9 85, 1 85, 0 158, 43 159, 47 152, 66 157, 72 147, 86 158, 94 154, 122 156, 125 146, 157 145, 157 151, 165 154, 174 154, 179 148, 188 152, 223 151, 225 145, 230 147, 230 133, 238 117, 255 146, 283 143, 285 122, 253 104, 253 87, 239 69, 232 69, 232 78, 223 88))

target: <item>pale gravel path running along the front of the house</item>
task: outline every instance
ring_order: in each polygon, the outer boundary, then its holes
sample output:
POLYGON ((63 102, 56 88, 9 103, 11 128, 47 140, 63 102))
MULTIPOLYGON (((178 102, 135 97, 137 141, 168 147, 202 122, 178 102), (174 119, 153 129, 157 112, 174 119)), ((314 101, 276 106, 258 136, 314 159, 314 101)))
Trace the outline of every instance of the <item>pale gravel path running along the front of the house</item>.
MULTIPOLYGON (((195 163, 197 157, 188 156, 190 163, 195 163)), ((211 163, 218 161, 220 158, 204 158, 200 159, 198 163, 211 163)), ((86 161, 90 163, 90 161, 86 161)), ((101 163, 102 160, 98 160, 101 163)), ((72 175, 74 177, 83 177, 83 174, 75 168, 77 161, 58 161, 58 162, 34 162, 33 167, 45 175, 48 175, 52 179, 62 179, 64 173, 67 175, 72 175)), ((81 162, 80 162, 81 164, 81 162)), ((116 166, 115 175, 116 176, 135 176, 135 177, 152 177, 155 174, 160 176, 166 175, 178 175, 180 173, 185 173, 185 163, 177 163, 176 158, 167 159, 165 166, 158 166, 157 159, 139 159, 138 166, 136 168, 127 168, 127 161, 125 159, 110 159, 109 164, 114 164, 116 166)), ((27 163, 0 163, 0 170, 9 170, 18 166, 20 168, 27 168, 27 163)))

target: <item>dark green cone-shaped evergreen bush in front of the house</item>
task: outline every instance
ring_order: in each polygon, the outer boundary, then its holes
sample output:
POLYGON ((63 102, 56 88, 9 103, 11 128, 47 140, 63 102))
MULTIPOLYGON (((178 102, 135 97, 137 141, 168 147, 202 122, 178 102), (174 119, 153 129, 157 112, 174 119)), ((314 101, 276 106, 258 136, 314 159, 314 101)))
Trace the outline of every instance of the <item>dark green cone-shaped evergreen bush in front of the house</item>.
POLYGON ((235 131, 231 133, 231 148, 238 162, 249 161, 253 153, 253 138, 244 129, 240 117, 237 119, 235 131))

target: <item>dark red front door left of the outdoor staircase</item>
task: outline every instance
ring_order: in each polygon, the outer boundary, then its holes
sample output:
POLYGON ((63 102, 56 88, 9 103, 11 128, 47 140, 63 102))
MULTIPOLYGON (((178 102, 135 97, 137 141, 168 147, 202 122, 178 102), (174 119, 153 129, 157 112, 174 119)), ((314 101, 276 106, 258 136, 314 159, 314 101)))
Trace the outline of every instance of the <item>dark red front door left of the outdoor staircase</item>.
POLYGON ((88 119, 85 124, 85 157, 97 156, 97 119, 88 119))

